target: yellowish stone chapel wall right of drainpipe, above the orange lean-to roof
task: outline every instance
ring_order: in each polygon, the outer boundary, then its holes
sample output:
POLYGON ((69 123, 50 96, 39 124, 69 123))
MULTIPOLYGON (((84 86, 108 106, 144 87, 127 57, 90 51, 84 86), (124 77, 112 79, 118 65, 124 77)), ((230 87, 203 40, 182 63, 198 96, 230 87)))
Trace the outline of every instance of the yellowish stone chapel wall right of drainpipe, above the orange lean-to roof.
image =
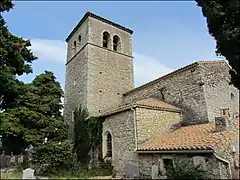
POLYGON ((170 132, 170 127, 180 121, 179 112, 136 108, 138 144, 170 132))

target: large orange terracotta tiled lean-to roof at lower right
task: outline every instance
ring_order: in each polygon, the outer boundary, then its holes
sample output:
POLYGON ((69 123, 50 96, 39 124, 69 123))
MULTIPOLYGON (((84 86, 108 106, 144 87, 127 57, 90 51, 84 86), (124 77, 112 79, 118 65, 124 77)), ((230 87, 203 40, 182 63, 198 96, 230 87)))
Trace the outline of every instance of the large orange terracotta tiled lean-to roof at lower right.
POLYGON ((215 132, 215 124, 199 124, 181 127, 162 138, 149 140, 141 144, 138 151, 179 151, 179 150, 214 150, 229 141, 232 136, 239 136, 239 120, 229 131, 215 132))

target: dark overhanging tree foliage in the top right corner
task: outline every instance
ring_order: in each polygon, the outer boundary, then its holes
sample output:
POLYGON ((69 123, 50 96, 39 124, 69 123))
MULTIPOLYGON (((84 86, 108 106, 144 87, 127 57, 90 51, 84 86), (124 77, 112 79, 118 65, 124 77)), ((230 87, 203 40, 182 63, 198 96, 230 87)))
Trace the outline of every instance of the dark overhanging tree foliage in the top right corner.
POLYGON ((196 0, 206 17, 209 34, 216 40, 217 55, 232 67, 231 81, 240 89, 240 1, 196 0))

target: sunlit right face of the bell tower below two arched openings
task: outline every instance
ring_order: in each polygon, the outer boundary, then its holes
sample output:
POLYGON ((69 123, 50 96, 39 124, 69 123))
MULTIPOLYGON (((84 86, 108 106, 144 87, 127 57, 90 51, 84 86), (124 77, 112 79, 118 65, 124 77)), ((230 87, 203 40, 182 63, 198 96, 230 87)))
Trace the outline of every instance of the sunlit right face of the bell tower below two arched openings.
POLYGON ((98 115, 120 104, 123 93, 133 89, 131 34, 89 18, 88 90, 89 111, 98 115), (110 34, 109 48, 102 47, 103 32, 110 34), (113 36, 120 49, 113 51, 113 36))

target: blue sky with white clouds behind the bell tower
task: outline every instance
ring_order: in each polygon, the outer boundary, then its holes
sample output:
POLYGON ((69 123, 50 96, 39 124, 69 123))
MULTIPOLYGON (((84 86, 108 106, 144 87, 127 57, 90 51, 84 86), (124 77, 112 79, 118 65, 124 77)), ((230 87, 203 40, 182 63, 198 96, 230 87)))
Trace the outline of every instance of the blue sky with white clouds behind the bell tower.
POLYGON ((9 30, 32 41, 38 56, 31 80, 45 70, 53 71, 64 88, 65 39, 87 11, 126 26, 133 33, 135 85, 200 60, 216 60, 215 40, 194 1, 159 2, 64 2, 14 1, 4 13, 9 30))

